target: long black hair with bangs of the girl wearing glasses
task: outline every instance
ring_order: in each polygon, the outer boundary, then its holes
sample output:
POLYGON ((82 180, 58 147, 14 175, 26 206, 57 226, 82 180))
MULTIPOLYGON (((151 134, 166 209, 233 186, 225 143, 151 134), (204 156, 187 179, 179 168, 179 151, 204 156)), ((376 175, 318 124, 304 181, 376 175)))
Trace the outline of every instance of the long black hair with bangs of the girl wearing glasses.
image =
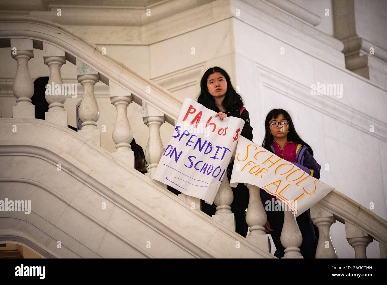
POLYGON ((288 141, 294 141, 297 144, 303 144, 307 146, 309 153, 313 155, 312 148, 309 146, 309 144, 305 143, 305 141, 303 141, 300 136, 298 136, 289 113, 284 109, 273 109, 267 114, 265 119, 265 137, 264 141, 262 142, 262 148, 265 148, 268 151, 272 151, 271 144, 273 143, 274 138, 270 133, 269 122, 272 118, 276 119, 280 114, 282 114, 285 120, 289 122, 288 141))

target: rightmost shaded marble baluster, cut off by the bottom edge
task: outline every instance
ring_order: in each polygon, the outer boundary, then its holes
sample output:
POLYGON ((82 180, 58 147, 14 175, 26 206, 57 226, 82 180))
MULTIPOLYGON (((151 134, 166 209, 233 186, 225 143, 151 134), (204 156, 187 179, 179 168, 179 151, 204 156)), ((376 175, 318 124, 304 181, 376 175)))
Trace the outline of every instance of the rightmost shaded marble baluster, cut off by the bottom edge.
POLYGON ((345 236, 355 250, 355 258, 367 258, 365 249, 373 241, 368 233, 345 221, 345 236))

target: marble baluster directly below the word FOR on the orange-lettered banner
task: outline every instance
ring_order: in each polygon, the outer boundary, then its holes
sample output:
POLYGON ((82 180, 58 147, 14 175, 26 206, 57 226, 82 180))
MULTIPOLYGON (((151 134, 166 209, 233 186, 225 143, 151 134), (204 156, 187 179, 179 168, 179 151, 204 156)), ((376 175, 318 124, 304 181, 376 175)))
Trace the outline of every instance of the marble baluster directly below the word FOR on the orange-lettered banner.
POLYGON ((245 183, 250 193, 246 213, 246 223, 250 227, 247 239, 271 252, 269 235, 265 232, 267 215, 262 205, 259 187, 245 183))

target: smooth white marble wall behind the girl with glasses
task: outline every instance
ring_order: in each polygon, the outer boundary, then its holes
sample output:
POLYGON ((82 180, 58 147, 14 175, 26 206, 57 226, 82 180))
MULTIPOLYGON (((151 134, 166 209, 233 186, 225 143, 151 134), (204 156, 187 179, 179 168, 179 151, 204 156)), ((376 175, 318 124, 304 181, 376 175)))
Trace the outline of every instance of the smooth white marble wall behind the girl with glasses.
MULTIPOLYGON (((386 218, 383 166, 387 137, 380 125, 384 125, 387 92, 240 21, 235 21, 235 48, 236 85, 242 86, 246 98, 254 140, 262 143, 267 112, 272 108, 289 110, 298 133, 322 165, 320 179, 366 208, 373 203, 372 211, 386 218), (311 95, 310 85, 317 81, 342 84, 342 98, 311 95), (374 133, 369 131, 370 124, 374 133), (326 164, 329 170, 325 170, 326 164)), ((331 233, 339 257, 353 258, 344 225, 336 223, 331 233)), ((377 242, 368 246, 367 253, 379 256, 377 242)))

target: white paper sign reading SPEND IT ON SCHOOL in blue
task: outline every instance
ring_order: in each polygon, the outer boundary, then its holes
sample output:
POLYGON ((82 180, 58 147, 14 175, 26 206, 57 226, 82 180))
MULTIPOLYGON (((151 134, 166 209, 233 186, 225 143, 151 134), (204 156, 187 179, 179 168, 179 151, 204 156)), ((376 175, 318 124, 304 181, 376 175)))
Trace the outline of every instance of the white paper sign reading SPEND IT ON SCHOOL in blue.
POLYGON ((227 117, 186 98, 170 143, 153 179, 206 203, 214 202, 245 121, 227 117))

